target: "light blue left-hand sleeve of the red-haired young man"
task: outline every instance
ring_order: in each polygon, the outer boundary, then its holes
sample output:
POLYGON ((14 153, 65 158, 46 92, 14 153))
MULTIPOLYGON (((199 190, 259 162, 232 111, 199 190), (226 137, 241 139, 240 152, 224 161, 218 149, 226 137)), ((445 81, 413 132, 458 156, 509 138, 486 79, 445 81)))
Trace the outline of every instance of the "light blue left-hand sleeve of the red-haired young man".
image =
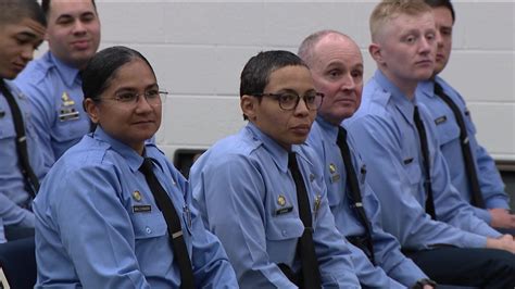
POLYGON ((356 150, 367 164, 367 180, 382 208, 382 227, 405 249, 428 249, 432 244, 485 248, 486 237, 468 234, 441 222, 431 221, 414 198, 410 177, 402 166, 394 127, 366 115, 347 124, 356 140, 356 150))

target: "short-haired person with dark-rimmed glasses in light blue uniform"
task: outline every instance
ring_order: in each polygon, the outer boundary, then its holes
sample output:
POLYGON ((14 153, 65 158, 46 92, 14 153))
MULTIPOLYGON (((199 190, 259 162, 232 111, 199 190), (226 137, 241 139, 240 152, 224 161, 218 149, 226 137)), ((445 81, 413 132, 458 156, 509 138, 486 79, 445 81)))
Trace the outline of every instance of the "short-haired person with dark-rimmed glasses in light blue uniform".
POLYGON ((240 106, 249 123, 191 167, 197 208, 224 244, 242 288, 298 288, 316 272, 324 288, 360 287, 329 211, 321 164, 302 144, 321 101, 296 54, 260 52, 241 73, 240 106), (317 261, 312 272, 301 267, 298 247, 305 228, 289 158, 299 164, 311 208, 317 261))

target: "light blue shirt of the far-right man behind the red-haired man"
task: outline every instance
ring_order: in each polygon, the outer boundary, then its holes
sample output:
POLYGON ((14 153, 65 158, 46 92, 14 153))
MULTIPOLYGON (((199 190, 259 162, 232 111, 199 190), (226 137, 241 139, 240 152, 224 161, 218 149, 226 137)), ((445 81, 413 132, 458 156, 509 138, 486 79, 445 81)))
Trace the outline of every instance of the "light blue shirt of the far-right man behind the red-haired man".
MULTIPOLYGON (((465 121, 470 151, 475 161, 477 177, 486 208, 510 209, 510 199, 504 191, 504 183, 495 167, 495 162, 476 139, 476 127, 470 118, 470 113, 468 112, 465 100, 440 77, 437 77, 437 81, 442 86, 445 95, 460 108, 463 120, 465 121)), ((449 108, 440 97, 434 93, 434 81, 428 80, 420 83, 418 85, 418 89, 420 90, 418 101, 428 108, 432 122, 437 127, 436 135, 440 141, 440 150, 443 158, 445 158, 451 174, 452 185, 457 189, 465 201, 470 202, 472 191, 462 153, 460 126, 456 123, 451 108, 449 108)), ((491 222, 488 210, 474 208, 474 211, 476 215, 485 222, 491 222)))

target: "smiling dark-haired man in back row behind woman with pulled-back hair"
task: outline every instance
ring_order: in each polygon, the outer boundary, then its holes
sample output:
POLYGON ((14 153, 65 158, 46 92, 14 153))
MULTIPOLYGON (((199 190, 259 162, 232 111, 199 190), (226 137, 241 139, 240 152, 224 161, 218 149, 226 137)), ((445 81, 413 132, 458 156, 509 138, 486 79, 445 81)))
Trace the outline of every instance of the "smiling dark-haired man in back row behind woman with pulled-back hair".
POLYGON ((97 52, 100 21, 95 0, 45 0, 49 51, 15 79, 33 104, 39 150, 52 164, 89 131, 79 72, 97 52))

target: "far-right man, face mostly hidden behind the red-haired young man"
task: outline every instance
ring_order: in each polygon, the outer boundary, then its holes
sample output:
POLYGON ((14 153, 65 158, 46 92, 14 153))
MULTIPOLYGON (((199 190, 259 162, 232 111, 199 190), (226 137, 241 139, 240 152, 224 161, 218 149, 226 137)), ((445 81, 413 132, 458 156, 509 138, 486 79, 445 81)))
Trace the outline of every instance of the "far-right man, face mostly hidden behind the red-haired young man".
POLYGON ((438 76, 445 68, 451 55, 452 28, 455 20, 454 8, 449 0, 426 0, 426 3, 432 8, 437 33, 440 37, 437 46, 434 75, 431 79, 418 85, 420 96, 418 100, 428 108, 432 122, 436 124, 440 150, 449 166, 452 185, 465 201, 472 203, 473 192, 462 153, 460 126, 451 108, 435 93, 435 83, 438 83, 442 87, 443 92, 459 106, 465 122, 474 166, 485 202, 485 208, 474 206, 474 211, 477 216, 492 227, 515 235, 515 215, 510 214, 510 198, 505 192, 504 183, 495 167, 495 162, 476 139, 476 126, 463 97, 438 76))

